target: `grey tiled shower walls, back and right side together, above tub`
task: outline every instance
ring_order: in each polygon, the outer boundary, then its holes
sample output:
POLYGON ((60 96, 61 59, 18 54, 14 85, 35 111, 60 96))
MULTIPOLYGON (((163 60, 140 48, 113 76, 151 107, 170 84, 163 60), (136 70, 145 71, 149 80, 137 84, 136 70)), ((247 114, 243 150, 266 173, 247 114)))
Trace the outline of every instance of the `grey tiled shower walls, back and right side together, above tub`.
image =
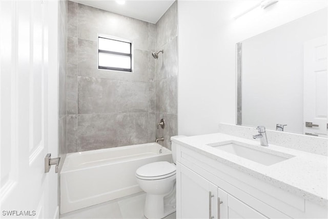
POLYGON ((177 134, 177 3, 156 25, 68 2, 67 150, 160 142, 177 134), (133 42, 134 70, 97 68, 98 34, 133 42), (155 60, 151 53, 164 49, 155 60), (160 118, 166 128, 156 130, 160 118))

